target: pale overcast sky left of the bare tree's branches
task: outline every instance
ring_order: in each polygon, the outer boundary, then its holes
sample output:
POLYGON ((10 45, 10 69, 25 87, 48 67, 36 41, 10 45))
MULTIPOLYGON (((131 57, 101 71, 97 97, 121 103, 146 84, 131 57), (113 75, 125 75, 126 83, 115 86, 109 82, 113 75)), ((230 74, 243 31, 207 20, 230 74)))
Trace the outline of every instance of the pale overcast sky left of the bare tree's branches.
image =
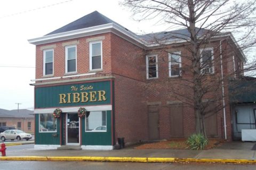
POLYGON ((15 103, 21 103, 20 109, 34 107, 34 86, 29 84, 35 79, 35 45, 27 39, 41 37, 95 10, 134 33, 153 30, 152 22, 132 20, 131 12, 119 6, 118 0, 1 1, 1 109, 17 109, 15 103))

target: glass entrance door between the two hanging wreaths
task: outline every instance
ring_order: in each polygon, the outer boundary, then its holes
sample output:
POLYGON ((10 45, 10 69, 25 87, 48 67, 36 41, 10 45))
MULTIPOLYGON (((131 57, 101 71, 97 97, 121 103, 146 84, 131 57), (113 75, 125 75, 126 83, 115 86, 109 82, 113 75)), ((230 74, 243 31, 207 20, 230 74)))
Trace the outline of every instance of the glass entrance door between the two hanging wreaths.
POLYGON ((67 113, 66 144, 79 145, 79 117, 77 114, 67 113))

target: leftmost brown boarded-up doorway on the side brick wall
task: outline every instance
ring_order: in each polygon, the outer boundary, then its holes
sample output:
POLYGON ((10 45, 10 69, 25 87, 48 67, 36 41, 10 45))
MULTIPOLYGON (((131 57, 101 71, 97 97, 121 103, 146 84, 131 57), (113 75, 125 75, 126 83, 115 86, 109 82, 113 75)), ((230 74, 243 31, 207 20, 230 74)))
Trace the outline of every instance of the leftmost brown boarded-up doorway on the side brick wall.
POLYGON ((148 106, 149 140, 159 139, 158 106, 148 106))

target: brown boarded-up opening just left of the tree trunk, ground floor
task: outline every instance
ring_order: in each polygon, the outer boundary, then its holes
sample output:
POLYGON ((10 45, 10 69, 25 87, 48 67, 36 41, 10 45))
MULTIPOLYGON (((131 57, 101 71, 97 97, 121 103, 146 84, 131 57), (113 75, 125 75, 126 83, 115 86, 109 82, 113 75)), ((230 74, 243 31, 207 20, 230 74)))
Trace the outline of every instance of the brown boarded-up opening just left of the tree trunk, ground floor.
POLYGON ((170 104, 171 136, 183 136, 183 104, 170 104))

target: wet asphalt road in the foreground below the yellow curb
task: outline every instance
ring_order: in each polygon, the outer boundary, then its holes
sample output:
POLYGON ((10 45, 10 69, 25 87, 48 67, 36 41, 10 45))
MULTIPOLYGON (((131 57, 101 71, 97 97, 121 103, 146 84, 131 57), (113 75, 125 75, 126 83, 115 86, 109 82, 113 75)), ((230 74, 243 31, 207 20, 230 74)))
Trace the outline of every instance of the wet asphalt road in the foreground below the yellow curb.
POLYGON ((223 164, 177 164, 177 163, 106 163, 106 162, 76 162, 76 161, 0 161, 1 170, 30 169, 225 169, 243 170, 255 169, 255 165, 223 165, 223 164))

